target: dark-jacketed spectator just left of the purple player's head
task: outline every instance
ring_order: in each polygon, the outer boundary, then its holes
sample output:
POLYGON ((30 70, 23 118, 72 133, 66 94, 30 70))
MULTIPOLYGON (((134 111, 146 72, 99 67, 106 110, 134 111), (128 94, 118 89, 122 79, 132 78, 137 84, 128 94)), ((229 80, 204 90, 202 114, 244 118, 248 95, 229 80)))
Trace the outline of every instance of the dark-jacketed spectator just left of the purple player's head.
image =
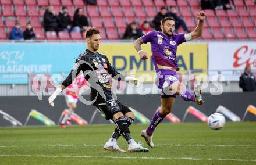
POLYGON ((135 21, 130 23, 123 34, 123 39, 137 39, 143 36, 141 28, 139 28, 135 21))

